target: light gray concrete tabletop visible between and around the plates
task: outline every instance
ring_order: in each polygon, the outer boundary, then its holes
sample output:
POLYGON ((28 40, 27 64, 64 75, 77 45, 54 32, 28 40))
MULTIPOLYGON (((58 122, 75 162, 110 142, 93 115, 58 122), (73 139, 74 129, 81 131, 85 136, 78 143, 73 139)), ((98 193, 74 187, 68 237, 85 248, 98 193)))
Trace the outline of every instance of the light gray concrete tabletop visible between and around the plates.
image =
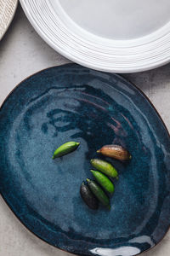
MULTIPOLYGON (((71 61, 51 49, 37 35, 19 6, 14 21, 0 42, 0 104, 20 81, 32 73, 71 61)), ((126 74, 127 79, 149 96, 170 130, 170 65, 144 73, 126 74)), ((0 256, 71 255, 41 241, 20 224, 0 197, 0 256)), ((144 256, 170 256, 170 231, 144 256)))

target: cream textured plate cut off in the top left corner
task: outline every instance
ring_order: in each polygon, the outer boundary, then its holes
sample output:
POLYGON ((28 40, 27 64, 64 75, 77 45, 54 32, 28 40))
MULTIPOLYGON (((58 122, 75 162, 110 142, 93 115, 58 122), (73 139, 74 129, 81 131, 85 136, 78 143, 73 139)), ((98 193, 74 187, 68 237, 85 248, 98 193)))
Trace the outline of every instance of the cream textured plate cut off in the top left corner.
POLYGON ((18 0, 0 0, 0 40, 13 20, 18 0))

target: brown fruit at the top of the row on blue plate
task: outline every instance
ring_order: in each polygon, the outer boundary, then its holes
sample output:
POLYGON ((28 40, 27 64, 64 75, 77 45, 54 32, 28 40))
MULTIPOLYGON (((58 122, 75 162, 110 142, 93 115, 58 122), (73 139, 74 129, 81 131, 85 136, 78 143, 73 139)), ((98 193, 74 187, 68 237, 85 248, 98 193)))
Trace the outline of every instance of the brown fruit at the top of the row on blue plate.
POLYGON ((120 145, 105 145, 100 148, 97 153, 104 154, 105 156, 121 161, 132 159, 132 155, 127 151, 127 149, 122 148, 120 145))

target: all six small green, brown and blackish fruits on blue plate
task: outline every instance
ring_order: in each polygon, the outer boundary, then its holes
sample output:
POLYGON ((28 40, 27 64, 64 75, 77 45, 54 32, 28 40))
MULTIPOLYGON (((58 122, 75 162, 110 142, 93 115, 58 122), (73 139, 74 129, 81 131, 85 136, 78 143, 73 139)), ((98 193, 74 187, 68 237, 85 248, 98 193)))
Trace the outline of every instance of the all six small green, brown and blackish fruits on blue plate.
MULTIPOLYGON (((76 142, 68 142, 61 145, 54 151, 53 159, 71 153, 72 151, 76 150, 79 145, 80 143, 76 142)), ((132 159, 132 155, 127 151, 127 149, 122 148, 120 145, 105 145, 104 147, 100 148, 97 153, 121 161, 132 159)), ((111 163, 105 160, 92 159, 90 162, 95 169, 91 170, 95 181, 87 178, 87 183, 82 182, 80 188, 82 200, 89 208, 93 210, 98 209, 99 202, 110 210, 110 197, 107 195, 107 193, 112 195, 115 191, 114 184, 111 182, 110 178, 117 179, 118 172, 116 171, 116 168, 111 165, 111 163)))

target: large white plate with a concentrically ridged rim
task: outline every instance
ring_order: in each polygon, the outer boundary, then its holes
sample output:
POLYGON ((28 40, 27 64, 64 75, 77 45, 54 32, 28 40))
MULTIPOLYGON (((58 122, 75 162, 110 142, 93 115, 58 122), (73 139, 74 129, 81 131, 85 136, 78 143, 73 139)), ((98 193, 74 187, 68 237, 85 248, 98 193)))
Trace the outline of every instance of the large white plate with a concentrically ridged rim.
POLYGON ((170 61, 169 0, 20 0, 32 26, 65 57, 106 72, 170 61))

